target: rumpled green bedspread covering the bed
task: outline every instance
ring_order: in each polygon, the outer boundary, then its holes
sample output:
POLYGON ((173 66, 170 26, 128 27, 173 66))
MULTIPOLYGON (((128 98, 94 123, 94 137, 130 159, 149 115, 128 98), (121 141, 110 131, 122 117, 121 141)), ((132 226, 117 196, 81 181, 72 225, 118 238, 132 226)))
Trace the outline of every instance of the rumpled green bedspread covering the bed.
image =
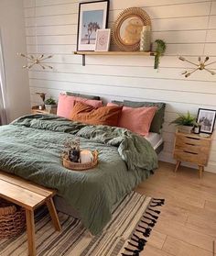
POLYGON ((0 169, 55 188, 93 235, 111 219, 112 206, 157 168, 150 143, 124 128, 89 126, 62 117, 31 115, 0 127, 0 169), (65 139, 98 150, 99 164, 85 172, 62 166, 65 139))

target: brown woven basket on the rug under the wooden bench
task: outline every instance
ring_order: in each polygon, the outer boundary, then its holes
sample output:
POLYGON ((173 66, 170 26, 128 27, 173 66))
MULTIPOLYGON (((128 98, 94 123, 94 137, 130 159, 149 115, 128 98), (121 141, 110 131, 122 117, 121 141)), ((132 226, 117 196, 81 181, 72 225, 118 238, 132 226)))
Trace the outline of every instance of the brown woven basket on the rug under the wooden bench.
POLYGON ((0 198, 0 239, 15 237, 25 227, 25 209, 0 198))

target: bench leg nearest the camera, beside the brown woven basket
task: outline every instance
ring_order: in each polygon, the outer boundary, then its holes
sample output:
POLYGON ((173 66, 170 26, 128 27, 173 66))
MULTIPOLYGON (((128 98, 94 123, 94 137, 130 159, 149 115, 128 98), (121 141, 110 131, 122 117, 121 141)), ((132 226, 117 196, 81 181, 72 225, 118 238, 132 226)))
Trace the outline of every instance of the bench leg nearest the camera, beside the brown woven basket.
POLYGON ((26 209, 26 218, 27 218, 28 254, 29 256, 36 256, 34 211, 26 209))

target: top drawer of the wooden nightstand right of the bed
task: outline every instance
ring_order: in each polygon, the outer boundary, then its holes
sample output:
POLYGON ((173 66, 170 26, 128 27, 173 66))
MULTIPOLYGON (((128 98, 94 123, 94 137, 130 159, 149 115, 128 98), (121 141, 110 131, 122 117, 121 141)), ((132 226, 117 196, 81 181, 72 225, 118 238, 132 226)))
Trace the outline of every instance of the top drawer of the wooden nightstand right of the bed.
POLYGON ((182 145, 197 145, 197 146, 204 146, 210 147, 211 140, 210 139, 202 139, 196 138, 192 135, 185 135, 185 134, 177 134, 176 135, 176 144, 181 143, 182 145))

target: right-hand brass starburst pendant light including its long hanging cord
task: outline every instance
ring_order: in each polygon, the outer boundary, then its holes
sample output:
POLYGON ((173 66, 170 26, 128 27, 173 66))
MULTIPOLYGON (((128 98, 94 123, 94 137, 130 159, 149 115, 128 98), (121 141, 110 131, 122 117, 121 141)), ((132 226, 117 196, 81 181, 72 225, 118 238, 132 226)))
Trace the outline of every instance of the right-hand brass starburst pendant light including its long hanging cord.
MULTIPOLYGON (((208 28, 206 29, 205 42, 204 42, 202 56, 204 56, 204 53, 205 53, 206 39, 207 39, 209 27, 210 27, 211 8, 212 8, 212 0, 211 0, 210 13, 209 13, 209 18, 208 18, 208 26, 207 26, 208 28)), ((212 61, 209 63, 208 61, 210 60, 210 57, 208 57, 208 56, 198 57, 198 63, 189 61, 185 57, 182 57, 182 56, 180 56, 178 59, 180 61, 186 61, 194 66, 194 68, 191 68, 189 71, 184 71, 181 73, 181 74, 184 74, 185 77, 189 77, 193 72, 197 72, 197 71, 210 72, 212 75, 216 74, 216 72, 209 69, 209 66, 213 63, 216 63, 216 61, 212 61)))

